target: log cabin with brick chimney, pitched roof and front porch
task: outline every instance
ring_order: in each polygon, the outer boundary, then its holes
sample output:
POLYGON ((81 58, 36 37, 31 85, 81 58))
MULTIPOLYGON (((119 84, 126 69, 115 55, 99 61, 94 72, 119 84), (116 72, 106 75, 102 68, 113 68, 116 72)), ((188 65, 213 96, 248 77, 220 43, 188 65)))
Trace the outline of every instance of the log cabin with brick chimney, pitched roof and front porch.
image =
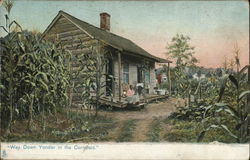
MULTIPOLYGON (((112 88, 112 93, 117 98, 114 101, 121 102, 120 104, 124 104, 122 92, 126 84, 135 86, 144 82, 147 94, 153 95, 156 86, 155 63, 171 63, 171 61, 151 55, 132 41, 111 33, 108 13, 100 14, 100 28, 98 28, 59 11, 44 31, 42 38, 59 39, 73 54, 87 49, 87 47, 80 50, 75 48, 80 43, 79 39, 85 46, 97 47, 100 43, 109 46, 113 58, 108 65, 107 72, 112 74, 115 80, 108 87, 112 88), (142 65, 145 66, 145 64, 147 64, 146 69, 142 69, 142 65)), ((77 93, 75 95, 73 102, 77 101, 77 93)))

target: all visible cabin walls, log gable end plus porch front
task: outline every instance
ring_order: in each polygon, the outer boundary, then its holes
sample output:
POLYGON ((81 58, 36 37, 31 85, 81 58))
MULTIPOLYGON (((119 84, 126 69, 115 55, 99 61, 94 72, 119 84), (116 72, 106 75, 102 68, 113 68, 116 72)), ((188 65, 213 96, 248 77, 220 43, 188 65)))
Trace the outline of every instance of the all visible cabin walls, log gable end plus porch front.
MULTIPOLYGON (((98 40, 92 38, 84 31, 80 30, 74 24, 72 24, 69 20, 65 17, 61 16, 58 21, 53 25, 53 27, 46 33, 44 39, 47 40, 60 40, 61 43, 64 45, 72 53, 72 73, 75 73, 79 70, 81 64, 76 61, 74 58, 76 55, 81 54, 82 52, 91 52, 90 47, 97 47, 98 40), (79 48, 78 46, 82 44, 79 48)), ((118 56, 113 52, 113 67, 114 67, 114 78, 115 81, 113 83, 113 94, 115 96, 119 96, 119 75, 118 75, 118 56)), ((134 57, 134 56, 127 56, 123 53, 121 54, 121 83, 123 83, 123 64, 124 62, 129 63, 129 84, 136 85, 137 84, 137 65, 143 64, 143 58, 141 57, 134 57)), ((149 84, 149 93, 154 93, 155 87, 155 66, 154 62, 150 62, 150 84, 149 84)), ((77 79, 73 79, 75 86, 81 83, 81 77, 77 79)), ((105 77, 102 78, 102 81, 105 81, 105 77)), ((82 103, 81 101, 81 92, 83 88, 77 88, 76 90, 72 90, 72 105, 79 106, 82 103)), ((104 92, 105 88, 102 89, 101 92, 104 92)))

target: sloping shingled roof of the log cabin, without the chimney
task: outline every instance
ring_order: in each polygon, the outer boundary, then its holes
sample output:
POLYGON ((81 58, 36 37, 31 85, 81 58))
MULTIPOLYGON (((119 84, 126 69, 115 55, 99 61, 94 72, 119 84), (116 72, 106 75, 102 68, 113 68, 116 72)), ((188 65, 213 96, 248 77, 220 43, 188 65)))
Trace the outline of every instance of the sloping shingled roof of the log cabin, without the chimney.
POLYGON ((79 27, 81 30, 85 31, 88 35, 90 35, 93 38, 96 38, 98 40, 103 41, 104 43, 107 43, 108 45, 120 49, 122 51, 131 52, 133 54, 141 55, 150 59, 155 60, 156 62, 160 63, 171 63, 171 61, 162 59, 156 56, 151 55, 138 45, 136 45, 131 40, 128 40, 124 37, 118 36, 116 34, 113 34, 111 32, 105 31, 103 29, 100 29, 98 27, 95 27, 87 22, 84 22, 78 18, 75 18, 74 16, 71 16, 70 14, 59 11, 56 18, 52 21, 52 23, 48 26, 48 28, 44 31, 43 35, 45 35, 48 30, 53 26, 53 24, 56 22, 56 20, 63 15, 65 18, 67 18, 69 21, 71 21, 73 24, 75 24, 77 27, 79 27))

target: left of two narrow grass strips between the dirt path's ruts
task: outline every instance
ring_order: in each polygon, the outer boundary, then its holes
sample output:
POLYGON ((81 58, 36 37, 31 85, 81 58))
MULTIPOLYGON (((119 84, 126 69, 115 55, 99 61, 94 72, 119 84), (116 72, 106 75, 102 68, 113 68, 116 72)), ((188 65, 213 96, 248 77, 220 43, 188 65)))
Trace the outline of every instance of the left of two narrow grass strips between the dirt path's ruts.
POLYGON ((116 139, 117 142, 129 142, 132 140, 136 121, 135 119, 124 121, 120 134, 116 139))

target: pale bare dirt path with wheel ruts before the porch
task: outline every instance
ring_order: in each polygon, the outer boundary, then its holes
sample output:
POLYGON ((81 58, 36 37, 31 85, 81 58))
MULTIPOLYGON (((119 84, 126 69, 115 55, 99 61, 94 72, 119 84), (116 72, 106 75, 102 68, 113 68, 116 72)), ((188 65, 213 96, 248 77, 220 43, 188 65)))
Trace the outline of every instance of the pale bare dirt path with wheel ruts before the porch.
MULTIPOLYGON (((150 129, 152 129, 152 123, 154 120, 159 120, 160 123, 163 123, 163 120, 168 117, 171 112, 175 111, 178 103, 182 103, 182 100, 175 98, 169 98, 162 102, 148 104, 142 110, 136 111, 100 111, 99 114, 113 117, 117 122, 117 127, 112 130, 108 139, 115 141, 118 136, 121 134, 122 127, 124 123, 128 120, 135 120, 135 129, 132 132, 132 142, 145 142, 148 141, 148 135, 150 129)), ((159 139, 162 139, 162 136, 166 134, 170 129, 168 125, 161 125, 159 134, 159 139)))

